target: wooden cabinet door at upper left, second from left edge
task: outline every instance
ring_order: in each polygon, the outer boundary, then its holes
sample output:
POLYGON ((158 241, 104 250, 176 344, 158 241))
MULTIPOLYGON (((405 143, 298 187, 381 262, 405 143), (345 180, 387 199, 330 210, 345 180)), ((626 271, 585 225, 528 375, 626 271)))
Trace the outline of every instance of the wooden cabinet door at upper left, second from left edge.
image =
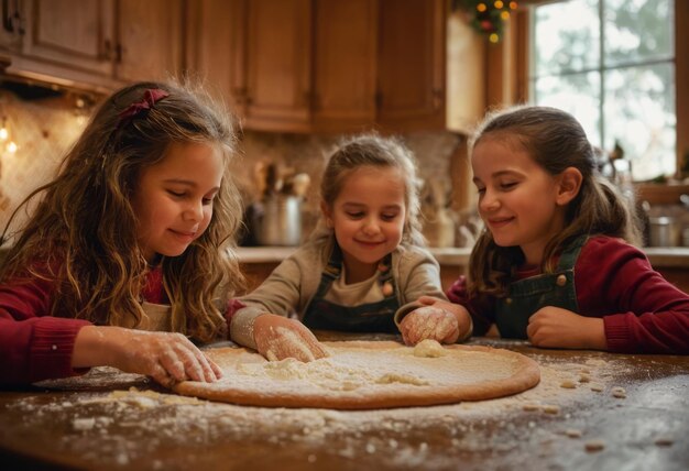
POLYGON ((112 74, 112 0, 26 0, 22 55, 112 74))

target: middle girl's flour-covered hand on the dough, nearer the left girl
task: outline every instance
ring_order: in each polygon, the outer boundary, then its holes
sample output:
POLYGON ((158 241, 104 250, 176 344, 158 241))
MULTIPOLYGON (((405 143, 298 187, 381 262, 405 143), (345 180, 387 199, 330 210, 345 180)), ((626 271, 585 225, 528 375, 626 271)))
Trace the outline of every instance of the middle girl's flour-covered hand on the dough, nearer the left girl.
POLYGON ((269 361, 295 358, 307 362, 328 357, 328 352, 306 326, 274 314, 256 317, 253 338, 259 353, 269 361))

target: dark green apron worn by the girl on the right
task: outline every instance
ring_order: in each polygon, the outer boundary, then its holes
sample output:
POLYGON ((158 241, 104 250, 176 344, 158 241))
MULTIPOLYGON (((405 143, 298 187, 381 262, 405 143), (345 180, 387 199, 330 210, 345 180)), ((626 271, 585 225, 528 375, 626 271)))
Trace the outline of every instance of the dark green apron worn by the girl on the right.
POLYGON ((518 280, 510 284, 507 297, 495 303, 495 326, 500 336, 526 339, 528 318, 545 306, 579 313, 575 286, 575 264, 588 237, 576 239, 562 252, 554 273, 518 280))

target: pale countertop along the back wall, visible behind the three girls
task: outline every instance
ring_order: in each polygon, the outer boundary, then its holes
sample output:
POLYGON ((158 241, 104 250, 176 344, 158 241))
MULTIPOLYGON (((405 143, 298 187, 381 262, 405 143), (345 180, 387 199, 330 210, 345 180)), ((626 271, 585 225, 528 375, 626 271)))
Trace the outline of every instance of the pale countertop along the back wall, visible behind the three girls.
MULTIPOLYGON (((238 249, 242 263, 280 263, 289 256, 294 247, 241 247, 238 249)), ((460 265, 469 263, 471 249, 430 248, 430 253, 441 265, 460 265)), ((653 266, 689 269, 689 248, 687 247, 646 247, 643 249, 653 266)))

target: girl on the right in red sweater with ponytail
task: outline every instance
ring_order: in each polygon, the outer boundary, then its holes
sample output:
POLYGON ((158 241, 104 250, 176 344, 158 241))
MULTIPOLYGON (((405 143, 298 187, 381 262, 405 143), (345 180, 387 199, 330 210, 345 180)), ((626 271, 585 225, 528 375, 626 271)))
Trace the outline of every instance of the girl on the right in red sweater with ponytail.
POLYGON ((577 120, 546 107, 490 114, 471 142, 485 230, 448 297, 534 346, 689 354, 689 295, 653 270, 626 196, 577 120))

